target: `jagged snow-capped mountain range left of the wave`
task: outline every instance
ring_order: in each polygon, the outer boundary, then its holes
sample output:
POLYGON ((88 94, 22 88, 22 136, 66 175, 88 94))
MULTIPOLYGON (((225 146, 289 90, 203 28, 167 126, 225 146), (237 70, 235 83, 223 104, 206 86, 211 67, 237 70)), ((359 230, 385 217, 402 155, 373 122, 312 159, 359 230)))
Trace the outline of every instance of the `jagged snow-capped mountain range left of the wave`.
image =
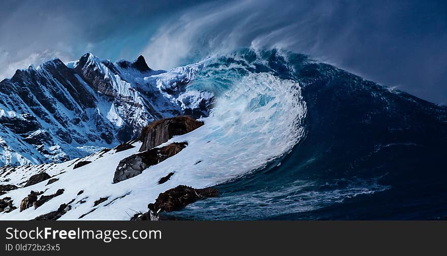
POLYGON ((213 95, 185 90, 200 68, 152 70, 143 56, 113 63, 87 53, 17 70, 0 82, 0 164, 63 162, 137 137, 153 120, 207 116, 213 95))

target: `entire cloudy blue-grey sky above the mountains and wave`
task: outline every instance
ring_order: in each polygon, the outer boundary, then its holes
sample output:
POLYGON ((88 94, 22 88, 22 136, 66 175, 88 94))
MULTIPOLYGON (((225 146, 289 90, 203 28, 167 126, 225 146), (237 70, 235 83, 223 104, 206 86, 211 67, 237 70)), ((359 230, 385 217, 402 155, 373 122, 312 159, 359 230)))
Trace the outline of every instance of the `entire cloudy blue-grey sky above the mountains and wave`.
POLYGON ((0 9, 0 79, 86 52, 143 54, 167 69, 239 47, 305 53, 447 104, 445 1, 2 0, 0 9))

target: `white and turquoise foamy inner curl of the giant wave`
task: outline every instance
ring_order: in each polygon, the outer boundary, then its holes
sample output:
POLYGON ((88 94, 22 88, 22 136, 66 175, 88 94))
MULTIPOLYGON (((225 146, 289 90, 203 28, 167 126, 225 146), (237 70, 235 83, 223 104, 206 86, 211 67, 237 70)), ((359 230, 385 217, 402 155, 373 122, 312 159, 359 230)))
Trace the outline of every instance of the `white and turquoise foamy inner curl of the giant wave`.
POLYGON ((307 109, 297 82, 210 59, 197 65, 201 71, 187 89, 212 92, 215 102, 203 127, 173 139, 188 142, 175 160, 166 161, 179 182, 220 184, 264 168, 303 138, 307 109))

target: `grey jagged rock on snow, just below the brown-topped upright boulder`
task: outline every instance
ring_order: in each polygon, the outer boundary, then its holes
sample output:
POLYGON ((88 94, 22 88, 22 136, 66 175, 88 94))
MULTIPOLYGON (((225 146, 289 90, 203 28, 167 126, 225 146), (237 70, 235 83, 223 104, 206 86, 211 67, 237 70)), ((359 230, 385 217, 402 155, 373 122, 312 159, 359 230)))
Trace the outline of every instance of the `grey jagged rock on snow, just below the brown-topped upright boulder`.
POLYGON ((186 148, 186 142, 174 142, 162 148, 153 148, 121 160, 116 167, 113 183, 135 177, 151 165, 158 164, 186 148))

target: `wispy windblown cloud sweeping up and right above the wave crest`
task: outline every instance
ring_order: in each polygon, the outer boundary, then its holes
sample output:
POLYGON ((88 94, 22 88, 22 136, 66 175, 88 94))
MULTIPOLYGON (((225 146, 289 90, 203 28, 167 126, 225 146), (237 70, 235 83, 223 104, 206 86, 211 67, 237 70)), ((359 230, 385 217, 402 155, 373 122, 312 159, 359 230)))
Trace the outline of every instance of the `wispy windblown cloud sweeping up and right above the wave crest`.
POLYGON ((170 68, 237 47, 282 48, 445 102, 445 10, 417 1, 215 1, 166 21, 142 53, 170 68))

